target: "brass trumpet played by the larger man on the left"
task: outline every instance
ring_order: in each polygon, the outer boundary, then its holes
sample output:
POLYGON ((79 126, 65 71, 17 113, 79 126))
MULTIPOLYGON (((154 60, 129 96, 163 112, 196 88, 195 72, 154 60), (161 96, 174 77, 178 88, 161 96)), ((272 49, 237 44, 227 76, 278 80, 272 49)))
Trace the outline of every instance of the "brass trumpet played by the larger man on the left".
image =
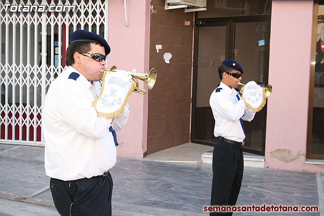
MULTIPOLYGON (((117 67, 114 65, 112 66, 110 69, 106 68, 105 71, 113 71, 113 70, 117 70, 117 67)), ((156 81, 156 69, 153 67, 150 72, 148 73, 136 73, 136 72, 131 72, 132 75, 132 79, 136 84, 136 88, 134 89, 134 92, 145 95, 146 94, 146 90, 145 89, 141 89, 139 88, 139 84, 137 79, 140 79, 142 81, 144 81, 147 84, 147 88, 148 90, 153 89, 155 81, 156 81)))

